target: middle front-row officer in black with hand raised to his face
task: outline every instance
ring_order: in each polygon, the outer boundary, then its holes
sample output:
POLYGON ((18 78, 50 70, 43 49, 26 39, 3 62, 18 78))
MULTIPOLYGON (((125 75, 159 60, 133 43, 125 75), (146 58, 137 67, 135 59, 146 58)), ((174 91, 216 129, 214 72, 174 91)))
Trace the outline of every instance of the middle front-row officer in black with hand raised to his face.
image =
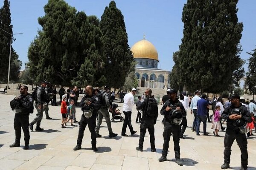
POLYGON ((152 91, 150 88, 148 88, 145 91, 146 99, 144 102, 138 103, 137 109, 142 109, 142 118, 141 118, 141 124, 140 124, 140 139, 139 139, 139 147, 136 147, 136 150, 143 151, 143 142, 146 130, 148 129, 148 133, 150 136, 150 145, 151 145, 151 152, 156 152, 155 147, 155 138, 154 138, 154 125, 157 123, 157 117, 158 117, 158 109, 154 113, 154 116, 149 116, 147 113, 148 108, 148 100, 154 100, 156 102, 156 99, 154 97, 151 97, 152 91))

